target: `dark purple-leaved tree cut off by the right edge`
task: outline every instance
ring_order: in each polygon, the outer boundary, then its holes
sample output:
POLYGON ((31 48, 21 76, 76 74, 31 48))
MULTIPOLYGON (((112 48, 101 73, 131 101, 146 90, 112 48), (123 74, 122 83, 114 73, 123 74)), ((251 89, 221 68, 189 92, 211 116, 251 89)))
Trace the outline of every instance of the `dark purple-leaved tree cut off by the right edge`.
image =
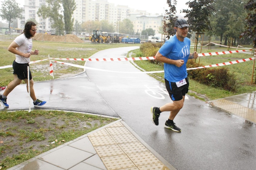
MULTIPOLYGON (((248 15, 245 18, 247 23, 246 31, 243 32, 242 36, 248 36, 252 38, 253 47, 256 48, 256 2, 255 0, 249 0, 247 4, 245 4, 244 8, 248 10, 248 15)), ((256 79, 255 79, 256 81, 256 79)))

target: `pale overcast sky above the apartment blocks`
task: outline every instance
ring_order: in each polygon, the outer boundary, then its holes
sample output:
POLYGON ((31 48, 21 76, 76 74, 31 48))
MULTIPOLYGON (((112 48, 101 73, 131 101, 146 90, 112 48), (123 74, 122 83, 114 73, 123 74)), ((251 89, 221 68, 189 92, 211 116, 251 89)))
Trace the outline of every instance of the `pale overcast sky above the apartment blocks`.
MULTIPOLYGON (((126 0, 126 1, 120 1, 120 0, 107 0, 110 3, 113 3, 116 5, 127 5, 130 8, 134 8, 137 10, 146 10, 149 13, 155 14, 155 13, 165 13, 164 10, 168 9, 169 7, 166 3, 166 0, 156 0, 156 1, 142 1, 142 0, 126 0)), ((177 0, 177 6, 176 14, 180 14, 181 9, 186 9, 187 6, 185 3, 189 0, 177 0)), ((16 0, 18 4, 20 4, 21 7, 24 5, 24 0, 16 0)))

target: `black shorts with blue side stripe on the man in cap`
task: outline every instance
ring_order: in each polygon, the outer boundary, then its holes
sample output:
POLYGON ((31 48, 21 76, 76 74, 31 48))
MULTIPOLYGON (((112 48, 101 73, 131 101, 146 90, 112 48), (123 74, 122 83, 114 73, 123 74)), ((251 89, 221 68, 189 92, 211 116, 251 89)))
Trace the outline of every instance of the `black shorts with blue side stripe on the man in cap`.
POLYGON ((177 87, 175 82, 169 82, 168 80, 164 79, 166 90, 168 91, 172 101, 179 101, 183 99, 183 96, 185 96, 188 92, 189 82, 187 78, 185 78, 185 80, 187 84, 177 87))

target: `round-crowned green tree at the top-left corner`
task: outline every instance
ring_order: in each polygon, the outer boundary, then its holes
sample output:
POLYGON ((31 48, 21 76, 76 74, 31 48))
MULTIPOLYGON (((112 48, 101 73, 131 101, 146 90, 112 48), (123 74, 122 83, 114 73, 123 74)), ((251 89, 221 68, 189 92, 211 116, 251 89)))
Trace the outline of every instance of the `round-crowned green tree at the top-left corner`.
POLYGON ((1 18, 3 20, 9 21, 9 28, 11 23, 13 22, 12 19, 22 18, 22 9, 19 7, 16 1, 4 1, 1 6, 0 12, 1 18))

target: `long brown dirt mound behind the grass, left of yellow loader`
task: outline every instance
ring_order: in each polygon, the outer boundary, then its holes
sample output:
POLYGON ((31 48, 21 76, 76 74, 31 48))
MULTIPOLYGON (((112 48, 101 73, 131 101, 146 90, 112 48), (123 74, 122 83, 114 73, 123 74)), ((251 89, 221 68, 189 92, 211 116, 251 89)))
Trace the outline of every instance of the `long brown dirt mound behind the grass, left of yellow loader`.
POLYGON ((50 35, 36 33, 34 40, 38 41, 56 41, 56 42, 66 42, 66 43, 84 43, 83 40, 78 38, 76 35, 66 34, 66 35, 50 35))

